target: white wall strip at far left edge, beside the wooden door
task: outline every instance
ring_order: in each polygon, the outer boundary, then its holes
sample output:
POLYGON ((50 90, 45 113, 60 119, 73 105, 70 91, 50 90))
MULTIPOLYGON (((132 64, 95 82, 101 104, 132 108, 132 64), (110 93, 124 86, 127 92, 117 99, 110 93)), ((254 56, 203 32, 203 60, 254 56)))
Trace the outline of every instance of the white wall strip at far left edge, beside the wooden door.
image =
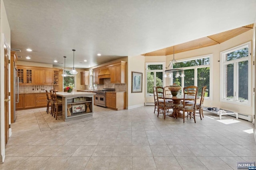
MULTIPOLYGON (((0 0, 0 80, 4 80, 4 42, 8 48, 11 47, 11 31, 7 20, 6 11, 3 0, 0 0)), ((9 51, 10 56, 10 51, 9 51)), ((0 87, 0 162, 4 162, 5 158, 5 136, 4 136, 4 82, 1 82, 0 87)), ((10 113, 10 111, 9 111, 10 113)), ((9 115, 10 117, 10 115, 9 115)))

